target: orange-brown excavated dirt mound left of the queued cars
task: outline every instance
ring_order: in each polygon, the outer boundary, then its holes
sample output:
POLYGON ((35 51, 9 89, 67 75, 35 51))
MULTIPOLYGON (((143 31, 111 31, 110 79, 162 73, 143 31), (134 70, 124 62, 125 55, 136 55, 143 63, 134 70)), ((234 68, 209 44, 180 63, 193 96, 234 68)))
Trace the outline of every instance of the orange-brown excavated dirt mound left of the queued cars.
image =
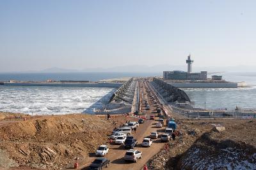
POLYGON ((82 114, 19 121, 0 127, 0 149, 19 166, 60 169, 106 144, 107 134, 122 121, 82 114))

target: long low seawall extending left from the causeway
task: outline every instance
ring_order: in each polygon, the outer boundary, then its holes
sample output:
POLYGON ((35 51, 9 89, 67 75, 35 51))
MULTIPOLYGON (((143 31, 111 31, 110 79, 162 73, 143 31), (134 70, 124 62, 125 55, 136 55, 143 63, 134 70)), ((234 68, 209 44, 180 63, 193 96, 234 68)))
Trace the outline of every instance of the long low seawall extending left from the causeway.
POLYGON ((56 87, 114 87, 118 88, 123 83, 44 83, 44 82, 4 82, 1 85, 16 85, 16 86, 56 86, 56 87))

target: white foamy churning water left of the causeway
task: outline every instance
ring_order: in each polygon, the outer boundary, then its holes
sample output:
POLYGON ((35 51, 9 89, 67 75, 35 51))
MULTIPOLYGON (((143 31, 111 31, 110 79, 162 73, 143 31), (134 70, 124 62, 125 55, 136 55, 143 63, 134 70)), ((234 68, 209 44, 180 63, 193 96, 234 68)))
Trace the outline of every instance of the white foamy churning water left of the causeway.
POLYGON ((111 90, 98 87, 0 86, 0 111, 38 115, 82 113, 111 90))

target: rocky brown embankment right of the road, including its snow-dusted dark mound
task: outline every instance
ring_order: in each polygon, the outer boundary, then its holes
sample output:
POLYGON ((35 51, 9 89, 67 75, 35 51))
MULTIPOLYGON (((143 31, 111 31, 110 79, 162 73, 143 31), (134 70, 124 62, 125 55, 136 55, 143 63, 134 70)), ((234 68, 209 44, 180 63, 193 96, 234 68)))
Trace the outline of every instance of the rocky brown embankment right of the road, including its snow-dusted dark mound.
POLYGON ((177 123, 180 135, 148 161, 148 169, 256 169, 255 120, 177 123))

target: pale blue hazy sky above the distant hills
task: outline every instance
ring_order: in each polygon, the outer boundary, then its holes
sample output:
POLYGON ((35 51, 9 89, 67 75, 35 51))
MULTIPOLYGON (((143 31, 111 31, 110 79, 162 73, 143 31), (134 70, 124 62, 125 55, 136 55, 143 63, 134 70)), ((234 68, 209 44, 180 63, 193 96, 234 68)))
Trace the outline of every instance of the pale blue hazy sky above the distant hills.
POLYGON ((0 0, 0 71, 256 66, 256 1, 0 0))

